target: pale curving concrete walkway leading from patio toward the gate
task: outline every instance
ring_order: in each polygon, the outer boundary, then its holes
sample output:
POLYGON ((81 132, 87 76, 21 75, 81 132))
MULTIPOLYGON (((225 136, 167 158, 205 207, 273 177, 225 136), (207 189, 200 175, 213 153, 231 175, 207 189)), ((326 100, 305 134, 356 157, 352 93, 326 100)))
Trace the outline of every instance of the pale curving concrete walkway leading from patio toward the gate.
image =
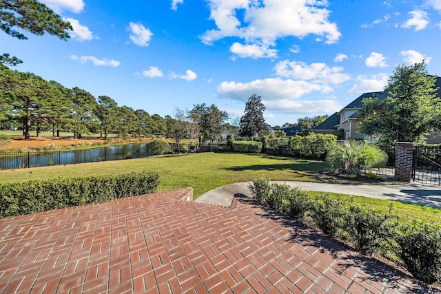
MULTIPOLYGON (((353 196, 365 196, 385 200, 396 200, 405 203, 424 205, 441 209, 441 187, 406 184, 406 185, 342 185, 320 182, 270 181, 286 183, 291 187, 300 187, 303 191, 323 191, 353 196)), ((252 194, 248 189, 250 182, 238 182, 209 191, 194 200, 207 204, 230 206, 234 194, 240 193, 249 198, 252 194)))

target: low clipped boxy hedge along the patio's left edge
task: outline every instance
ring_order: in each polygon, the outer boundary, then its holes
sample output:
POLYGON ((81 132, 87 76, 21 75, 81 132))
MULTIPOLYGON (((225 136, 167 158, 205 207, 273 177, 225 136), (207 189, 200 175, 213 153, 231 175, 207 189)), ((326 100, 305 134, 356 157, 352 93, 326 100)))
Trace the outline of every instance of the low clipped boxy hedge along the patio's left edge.
POLYGON ((0 184, 0 217, 143 195, 152 193, 158 185, 158 174, 146 171, 0 184))

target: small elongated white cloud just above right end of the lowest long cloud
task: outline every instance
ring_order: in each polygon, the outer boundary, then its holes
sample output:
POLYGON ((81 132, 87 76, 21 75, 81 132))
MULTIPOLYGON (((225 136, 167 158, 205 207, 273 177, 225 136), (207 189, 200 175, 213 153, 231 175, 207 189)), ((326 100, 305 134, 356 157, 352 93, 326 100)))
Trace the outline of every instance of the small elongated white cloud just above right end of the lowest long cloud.
POLYGON ((326 63, 311 63, 307 65, 299 61, 280 61, 274 67, 278 76, 296 78, 315 83, 340 84, 350 79, 348 74, 343 74, 343 67, 329 67, 326 63))

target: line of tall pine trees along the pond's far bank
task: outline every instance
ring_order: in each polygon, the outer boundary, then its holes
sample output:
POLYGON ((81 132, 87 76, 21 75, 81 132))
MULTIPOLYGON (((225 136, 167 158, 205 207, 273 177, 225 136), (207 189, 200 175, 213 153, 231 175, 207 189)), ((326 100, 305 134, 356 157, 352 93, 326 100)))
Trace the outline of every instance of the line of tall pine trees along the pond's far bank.
POLYGON ((69 89, 5 65, 0 65, 0 107, 3 125, 18 125, 25 139, 30 138, 31 129, 38 137, 48 129, 54 136, 73 132, 74 138, 86 133, 101 133, 104 138, 110 133, 121 137, 167 133, 166 120, 158 114, 119 106, 109 96, 96 99, 79 87, 69 89))

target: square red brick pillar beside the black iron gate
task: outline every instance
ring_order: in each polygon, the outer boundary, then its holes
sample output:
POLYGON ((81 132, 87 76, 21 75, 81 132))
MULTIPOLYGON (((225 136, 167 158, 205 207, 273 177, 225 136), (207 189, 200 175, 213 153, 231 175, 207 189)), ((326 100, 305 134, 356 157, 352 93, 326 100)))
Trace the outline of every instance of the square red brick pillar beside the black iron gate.
POLYGON ((395 147, 395 178, 410 182, 412 178, 413 143, 398 142, 395 147))

